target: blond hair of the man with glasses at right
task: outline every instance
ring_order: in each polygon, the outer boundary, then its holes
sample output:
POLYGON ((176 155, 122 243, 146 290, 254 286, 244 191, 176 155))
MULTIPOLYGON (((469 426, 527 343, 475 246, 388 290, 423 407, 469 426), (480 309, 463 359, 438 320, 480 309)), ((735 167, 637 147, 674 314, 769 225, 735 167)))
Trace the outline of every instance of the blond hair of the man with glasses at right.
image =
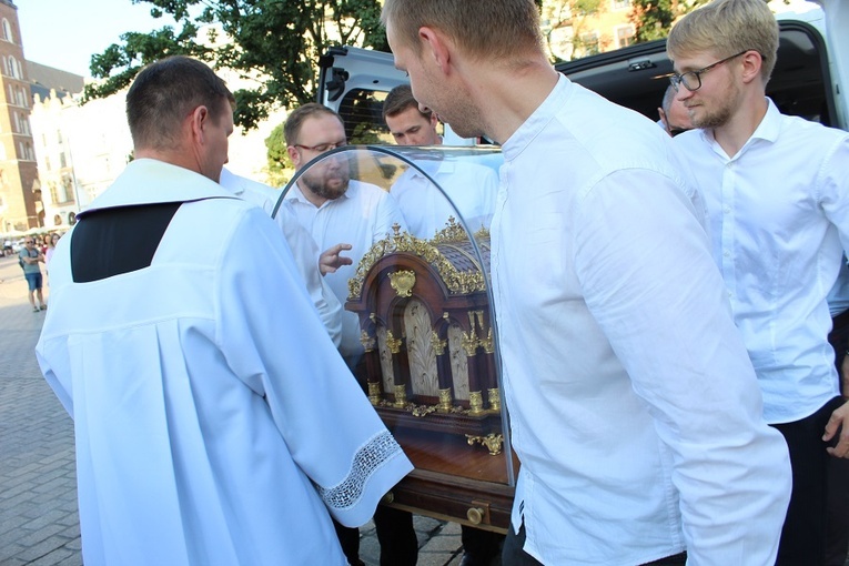
POLYGON ((776 65, 778 22, 765 0, 715 0, 681 18, 666 41, 673 60, 696 51, 724 58, 748 50, 760 53, 766 84, 776 65))

